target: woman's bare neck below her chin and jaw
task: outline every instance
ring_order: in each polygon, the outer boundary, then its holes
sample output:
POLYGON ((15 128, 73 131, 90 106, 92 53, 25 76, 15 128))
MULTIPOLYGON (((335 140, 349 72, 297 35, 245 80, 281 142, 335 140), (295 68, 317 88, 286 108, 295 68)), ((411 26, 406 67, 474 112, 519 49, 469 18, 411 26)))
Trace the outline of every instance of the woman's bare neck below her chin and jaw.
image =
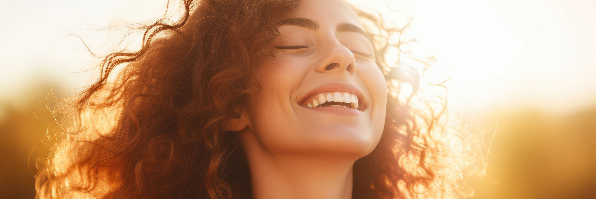
POLYGON ((352 168, 349 157, 321 154, 269 153, 250 132, 242 132, 249 161, 253 199, 352 198, 352 168))

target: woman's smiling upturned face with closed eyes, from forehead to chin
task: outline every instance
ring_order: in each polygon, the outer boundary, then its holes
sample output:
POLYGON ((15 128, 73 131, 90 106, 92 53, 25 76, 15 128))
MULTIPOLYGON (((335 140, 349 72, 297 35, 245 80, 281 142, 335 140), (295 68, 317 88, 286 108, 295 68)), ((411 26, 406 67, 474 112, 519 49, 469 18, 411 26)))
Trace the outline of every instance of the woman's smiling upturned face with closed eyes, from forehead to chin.
POLYGON ((340 0, 305 0, 284 18, 276 56, 257 72, 262 89, 249 97, 248 128, 272 154, 371 153, 387 84, 359 18, 340 0))

